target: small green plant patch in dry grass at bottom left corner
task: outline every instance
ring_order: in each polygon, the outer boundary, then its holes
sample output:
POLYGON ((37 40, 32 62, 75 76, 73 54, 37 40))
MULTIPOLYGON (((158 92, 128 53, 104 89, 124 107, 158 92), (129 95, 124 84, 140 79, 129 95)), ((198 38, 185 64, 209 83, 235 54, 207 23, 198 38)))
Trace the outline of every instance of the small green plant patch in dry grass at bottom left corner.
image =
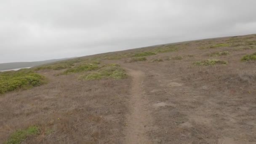
POLYGON ((4 144, 21 144, 22 141, 27 139, 29 136, 37 136, 40 134, 40 129, 37 126, 30 126, 24 130, 18 130, 12 133, 4 144))

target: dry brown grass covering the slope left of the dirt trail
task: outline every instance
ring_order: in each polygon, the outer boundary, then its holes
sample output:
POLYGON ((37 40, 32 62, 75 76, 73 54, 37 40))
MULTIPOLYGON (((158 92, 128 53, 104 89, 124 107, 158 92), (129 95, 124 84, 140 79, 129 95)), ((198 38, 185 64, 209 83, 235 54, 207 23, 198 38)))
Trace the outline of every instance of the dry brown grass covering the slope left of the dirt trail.
POLYGON ((76 75, 42 71, 51 81, 0 99, 0 143, 11 133, 38 125, 41 133, 27 143, 104 144, 122 141, 130 80, 79 81, 76 75), (109 91, 111 89, 111 91, 109 91))

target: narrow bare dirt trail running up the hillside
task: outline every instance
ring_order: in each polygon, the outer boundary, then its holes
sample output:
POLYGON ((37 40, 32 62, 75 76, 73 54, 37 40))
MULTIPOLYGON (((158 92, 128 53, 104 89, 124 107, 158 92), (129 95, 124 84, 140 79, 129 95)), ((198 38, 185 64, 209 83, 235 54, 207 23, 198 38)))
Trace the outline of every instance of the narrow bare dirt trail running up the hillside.
POLYGON ((125 144, 151 144, 146 135, 151 118, 147 109, 147 99, 143 96, 142 83, 144 73, 128 69, 132 76, 131 99, 129 101, 131 113, 127 116, 125 144))

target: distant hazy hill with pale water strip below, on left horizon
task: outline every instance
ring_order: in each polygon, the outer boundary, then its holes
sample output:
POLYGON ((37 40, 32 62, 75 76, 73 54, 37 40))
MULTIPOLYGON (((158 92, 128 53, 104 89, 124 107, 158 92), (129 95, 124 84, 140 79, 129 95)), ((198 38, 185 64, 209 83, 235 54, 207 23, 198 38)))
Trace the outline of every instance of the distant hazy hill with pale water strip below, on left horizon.
POLYGON ((72 58, 64 58, 64 59, 51 59, 46 61, 32 61, 32 62, 11 62, 11 63, 3 63, 0 64, 0 71, 8 70, 8 69, 18 69, 24 67, 35 67, 41 64, 48 64, 56 61, 63 61, 72 58))

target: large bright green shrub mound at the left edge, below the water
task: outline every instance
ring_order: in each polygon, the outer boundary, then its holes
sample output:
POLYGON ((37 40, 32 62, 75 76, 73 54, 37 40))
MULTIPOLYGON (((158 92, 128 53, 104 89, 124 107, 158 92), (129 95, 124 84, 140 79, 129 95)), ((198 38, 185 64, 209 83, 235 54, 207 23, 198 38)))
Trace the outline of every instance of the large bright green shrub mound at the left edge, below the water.
POLYGON ((27 69, 0 73, 0 94, 16 89, 29 89, 45 83, 45 77, 27 69))

